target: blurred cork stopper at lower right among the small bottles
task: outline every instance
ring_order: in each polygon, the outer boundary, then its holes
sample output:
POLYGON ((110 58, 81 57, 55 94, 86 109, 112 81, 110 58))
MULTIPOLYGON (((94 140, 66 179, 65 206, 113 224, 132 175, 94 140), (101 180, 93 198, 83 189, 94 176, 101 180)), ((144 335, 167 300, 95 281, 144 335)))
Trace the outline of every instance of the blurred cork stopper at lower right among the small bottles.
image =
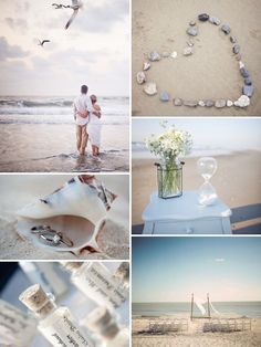
POLYGON ((91 312, 86 318, 86 325, 91 330, 101 334, 107 339, 114 338, 119 332, 115 317, 106 307, 102 306, 91 312))

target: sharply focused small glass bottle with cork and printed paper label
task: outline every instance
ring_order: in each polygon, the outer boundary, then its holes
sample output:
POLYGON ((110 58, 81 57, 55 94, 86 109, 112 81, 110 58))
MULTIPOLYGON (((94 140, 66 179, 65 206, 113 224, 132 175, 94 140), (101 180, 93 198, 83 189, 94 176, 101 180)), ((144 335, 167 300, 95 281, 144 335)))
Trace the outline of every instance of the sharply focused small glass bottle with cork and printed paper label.
POLYGON ((54 347, 94 347, 92 338, 80 329, 67 307, 56 307, 53 297, 39 284, 30 286, 19 299, 39 319, 38 329, 54 347))

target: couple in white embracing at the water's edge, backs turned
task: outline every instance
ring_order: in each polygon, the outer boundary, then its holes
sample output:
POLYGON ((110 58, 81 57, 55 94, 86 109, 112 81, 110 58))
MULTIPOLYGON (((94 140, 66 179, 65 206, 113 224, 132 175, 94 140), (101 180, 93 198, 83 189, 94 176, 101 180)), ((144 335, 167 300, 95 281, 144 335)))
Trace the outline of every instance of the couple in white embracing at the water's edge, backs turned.
POLYGON ((85 155, 87 140, 90 139, 93 156, 100 155, 101 145, 101 107, 95 95, 87 95, 88 87, 81 86, 81 95, 73 102, 73 114, 76 124, 76 146, 80 155, 85 155))

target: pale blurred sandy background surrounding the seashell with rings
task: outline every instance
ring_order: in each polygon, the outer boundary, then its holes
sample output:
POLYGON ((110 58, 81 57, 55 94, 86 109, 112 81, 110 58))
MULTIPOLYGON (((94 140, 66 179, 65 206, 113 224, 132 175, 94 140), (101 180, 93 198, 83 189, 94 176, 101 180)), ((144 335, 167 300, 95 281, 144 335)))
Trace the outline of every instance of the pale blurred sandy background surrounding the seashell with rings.
POLYGON ((17 233, 15 212, 25 204, 51 193, 72 177, 72 175, 0 176, 0 259, 128 259, 128 177, 125 175, 96 176, 118 196, 107 213, 105 227, 97 234, 100 252, 92 253, 90 250, 84 250, 77 256, 71 252, 50 252, 35 246, 31 240, 21 239, 17 233))

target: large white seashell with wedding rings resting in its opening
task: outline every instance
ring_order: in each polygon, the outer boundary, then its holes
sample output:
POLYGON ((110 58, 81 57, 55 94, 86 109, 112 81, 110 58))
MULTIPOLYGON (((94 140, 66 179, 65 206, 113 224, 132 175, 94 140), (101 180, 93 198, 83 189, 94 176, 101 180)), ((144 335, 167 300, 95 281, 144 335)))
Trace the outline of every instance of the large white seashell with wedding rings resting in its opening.
POLYGON ((96 236, 116 197, 94 176, 74 177, 53 193, 19 210, 17 231, 52 251, 79 252, 86 246, 98 250, 96 236), (53 245, 44 242, 51 239, 53 245))

